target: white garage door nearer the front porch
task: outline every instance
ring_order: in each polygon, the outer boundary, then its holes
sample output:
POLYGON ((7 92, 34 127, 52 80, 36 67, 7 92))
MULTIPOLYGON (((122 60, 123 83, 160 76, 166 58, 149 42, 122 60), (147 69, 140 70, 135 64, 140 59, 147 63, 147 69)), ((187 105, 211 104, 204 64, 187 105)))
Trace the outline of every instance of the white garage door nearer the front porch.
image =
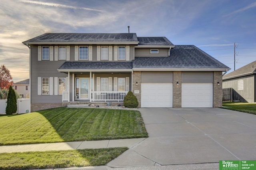
POLYGON ((172 83, 142 83, 141 107, 172 107, 172 83))

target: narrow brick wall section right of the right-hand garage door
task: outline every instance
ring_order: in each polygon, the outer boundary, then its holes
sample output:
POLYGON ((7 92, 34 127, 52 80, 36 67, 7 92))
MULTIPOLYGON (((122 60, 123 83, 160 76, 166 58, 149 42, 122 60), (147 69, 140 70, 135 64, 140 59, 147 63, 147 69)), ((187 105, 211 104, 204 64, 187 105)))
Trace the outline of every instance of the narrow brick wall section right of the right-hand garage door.
POLYGON ((213 107, 222 107, 222 72, 213 72, 213 107), (220 85, 218 85, 218 82, 220 85))

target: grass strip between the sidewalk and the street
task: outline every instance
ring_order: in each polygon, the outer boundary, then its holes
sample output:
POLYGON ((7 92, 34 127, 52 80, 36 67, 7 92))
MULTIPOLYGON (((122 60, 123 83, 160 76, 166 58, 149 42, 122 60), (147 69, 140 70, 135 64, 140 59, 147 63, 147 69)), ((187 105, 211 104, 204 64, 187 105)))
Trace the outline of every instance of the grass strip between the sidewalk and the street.
POLYGON ((1 170, 103 166, 128 148, 16 152, 0 154, 1 170))

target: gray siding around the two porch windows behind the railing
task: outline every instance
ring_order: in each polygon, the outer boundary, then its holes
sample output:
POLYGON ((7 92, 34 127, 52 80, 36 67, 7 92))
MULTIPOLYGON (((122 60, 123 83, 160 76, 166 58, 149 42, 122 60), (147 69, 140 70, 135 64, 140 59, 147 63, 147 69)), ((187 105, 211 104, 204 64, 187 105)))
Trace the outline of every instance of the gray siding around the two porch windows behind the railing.
POLYGON ((126 78, 129 77, 129 90, 132 90, 132 74, 94 74, 94 91, 97 91, 97 77, 109 78, 112 77, 112 91, 114 91, 114 77, 126 78))

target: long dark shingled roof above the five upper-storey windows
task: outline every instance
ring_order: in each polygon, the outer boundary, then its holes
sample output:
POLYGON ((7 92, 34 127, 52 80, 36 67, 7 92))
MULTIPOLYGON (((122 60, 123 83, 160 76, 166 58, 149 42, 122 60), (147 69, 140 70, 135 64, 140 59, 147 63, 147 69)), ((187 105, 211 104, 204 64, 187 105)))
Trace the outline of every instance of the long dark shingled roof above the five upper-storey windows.
POLYGON ((136 33, 45 33, 23 44, 125 42, 138 44, 136 33))

